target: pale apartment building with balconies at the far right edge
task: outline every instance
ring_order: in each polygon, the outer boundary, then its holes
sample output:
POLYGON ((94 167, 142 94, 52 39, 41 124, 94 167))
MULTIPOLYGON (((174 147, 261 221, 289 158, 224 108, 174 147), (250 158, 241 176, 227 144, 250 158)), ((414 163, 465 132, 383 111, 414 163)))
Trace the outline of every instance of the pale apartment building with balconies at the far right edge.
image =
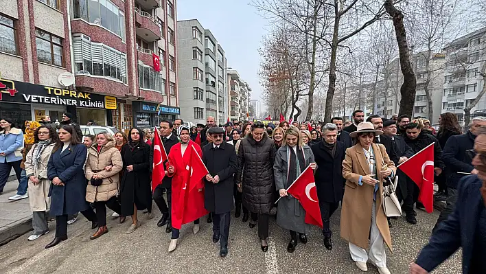
MULTIPOLYGON (((442 112, 452 112, 463 122, 464 108, 476 100, 485 84, 479 71, 486 62, 486 27, 457 38, 444 50, 442 112)), ((471 115, 484 116, 485 113, 486 98, 483 96, 472 108, 471 115)))

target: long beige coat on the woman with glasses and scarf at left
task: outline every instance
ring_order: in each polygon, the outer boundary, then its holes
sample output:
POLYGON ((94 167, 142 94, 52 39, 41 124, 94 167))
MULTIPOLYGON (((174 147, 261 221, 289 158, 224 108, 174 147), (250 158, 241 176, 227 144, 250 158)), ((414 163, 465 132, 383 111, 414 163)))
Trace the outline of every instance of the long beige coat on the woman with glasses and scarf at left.
POLYGON ((29 187, 27 190, 29 193, 30 210, 32 212, 45 212, 51 206, 51 197, 49 197, 51 181, 47 179, 47 163, 49 163, 49 157, 51 157, 54 144, 50 144, 44 148, 40 155, 37 168, 34 169, 32 158, 34 157, 34 150, 36 150, 37 146, 38 144, 34 144, 25 156, 25 174, 27 174, 27 178, 33 175, 39 179, 39 183, 36 185, 29 179, 29 187))

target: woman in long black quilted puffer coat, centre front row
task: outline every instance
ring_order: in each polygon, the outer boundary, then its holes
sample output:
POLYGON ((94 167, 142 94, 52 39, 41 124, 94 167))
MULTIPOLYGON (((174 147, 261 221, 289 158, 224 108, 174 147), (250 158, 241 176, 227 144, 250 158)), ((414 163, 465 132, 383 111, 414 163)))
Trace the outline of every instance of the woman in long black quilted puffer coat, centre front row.
POLYGON ((250 227, 255 227, 258 220, 258 236, 264 252, 268 251, 268 214, 275 202, 276 152, 273 139, 268 137, 261 122, 251 126, 251 133, 242 139, 238 148, 237 184, 242 183, 243 205, 251 212, 250 227))

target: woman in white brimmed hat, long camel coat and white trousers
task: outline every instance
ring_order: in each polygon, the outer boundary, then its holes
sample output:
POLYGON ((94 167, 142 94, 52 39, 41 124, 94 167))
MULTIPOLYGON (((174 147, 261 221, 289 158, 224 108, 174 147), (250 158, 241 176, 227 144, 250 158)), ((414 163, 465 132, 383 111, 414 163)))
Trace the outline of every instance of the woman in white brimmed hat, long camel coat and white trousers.
POLYGON ((346 150, 343 161, 346 186, 340 233, 349 242, 351 258, 359 269, 367 271, 369 259, 380 274, 389 274, 384 242, 391 251, 392 247, 388 221, 382 208, 382 181, 393 176, 396 169, 384 146, 373 144, 375 136, 381 134, 382 131, 375 130, 370 122, 360 123, 358 130, 351 133, 351 137, 356 138, 356 145, 346 150), (369 253, 366 251, 368 246, 369 253))

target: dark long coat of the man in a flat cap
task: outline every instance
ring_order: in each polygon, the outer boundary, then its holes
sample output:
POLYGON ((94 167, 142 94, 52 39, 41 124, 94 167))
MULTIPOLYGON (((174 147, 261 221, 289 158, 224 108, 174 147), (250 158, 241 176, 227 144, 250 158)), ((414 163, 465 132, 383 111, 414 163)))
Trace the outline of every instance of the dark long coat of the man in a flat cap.
POLYGON ((211 176, 218 175, 220 181, 205 181, 205 208, 209 212, 222 214, 230 212, 233 207, 233 174, 238 167, 235 148, 222 142, 219 148, 213 144, 203 147, 203 162, 211 176))

